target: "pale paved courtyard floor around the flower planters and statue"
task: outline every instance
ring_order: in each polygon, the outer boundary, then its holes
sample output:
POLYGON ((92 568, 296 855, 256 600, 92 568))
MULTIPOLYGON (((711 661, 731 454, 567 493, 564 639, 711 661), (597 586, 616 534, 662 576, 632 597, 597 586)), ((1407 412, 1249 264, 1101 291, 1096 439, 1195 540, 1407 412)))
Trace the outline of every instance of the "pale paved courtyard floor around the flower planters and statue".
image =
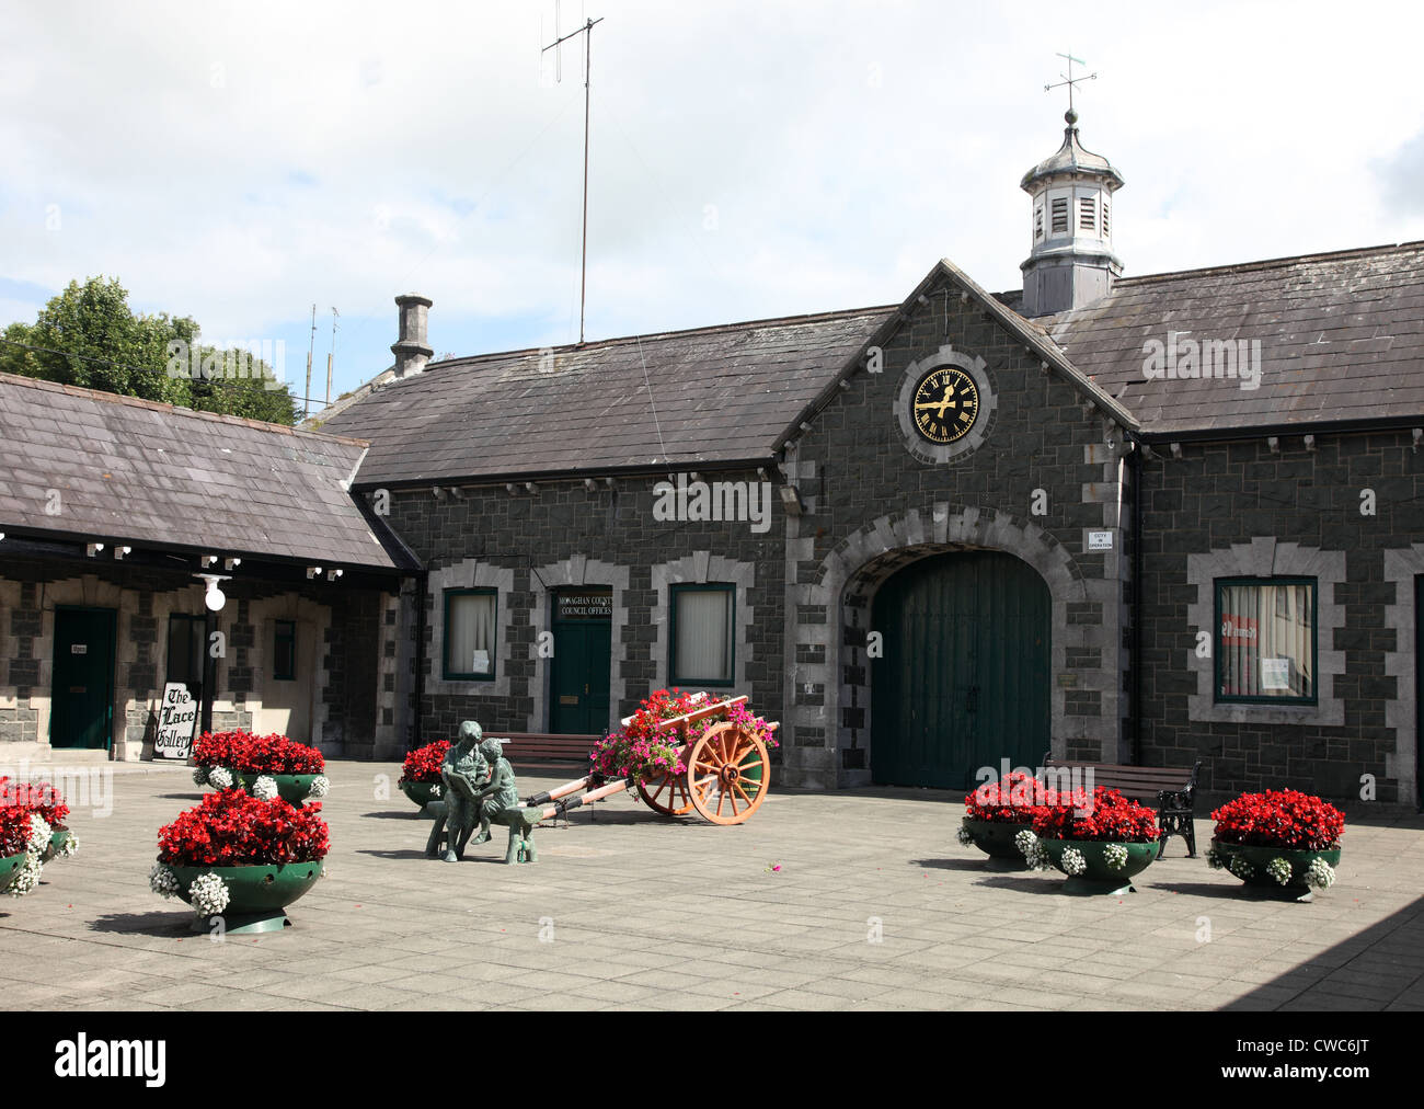
POLYGON ((1243 898, 1179 840, 1136 894, 1081 898, 987 868, 930 791, 780 793, 735 828, 617 797, 541 828, 537 865, 501 865, 500 830, 450 865, 399 773, 329 764, 329 877, 293 928, 212 942, 148 889, 158 828, 201 791, 118 767, 112 814, 70 821, 80 854, 0 898, 4 1008, 1424 1008, 1418 818, 1351 821, 1310 905, 1243 898))

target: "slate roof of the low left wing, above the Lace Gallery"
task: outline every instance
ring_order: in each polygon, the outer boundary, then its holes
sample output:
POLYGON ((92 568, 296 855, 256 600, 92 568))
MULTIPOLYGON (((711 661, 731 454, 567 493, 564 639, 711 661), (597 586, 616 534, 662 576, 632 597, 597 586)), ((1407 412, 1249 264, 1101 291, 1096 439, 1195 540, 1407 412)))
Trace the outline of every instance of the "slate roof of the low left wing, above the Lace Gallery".
MULTIPOLYGON (((0 532, 409 569, 346 483, 366 443, 0 373, 0 532), (61 512, 46 513, 50 489, 61 512)), ((382 529, 384 530, 384 529, 382 529)))

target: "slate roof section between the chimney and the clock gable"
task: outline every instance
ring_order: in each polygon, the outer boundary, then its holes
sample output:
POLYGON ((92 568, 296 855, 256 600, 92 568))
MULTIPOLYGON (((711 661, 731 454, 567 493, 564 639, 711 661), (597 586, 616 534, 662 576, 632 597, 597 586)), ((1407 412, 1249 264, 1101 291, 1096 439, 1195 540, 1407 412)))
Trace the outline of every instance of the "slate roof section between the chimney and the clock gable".
POLYGON ((357 486, 773 460, 772 442, 894 308, 433 362, 322 429, 357 486))

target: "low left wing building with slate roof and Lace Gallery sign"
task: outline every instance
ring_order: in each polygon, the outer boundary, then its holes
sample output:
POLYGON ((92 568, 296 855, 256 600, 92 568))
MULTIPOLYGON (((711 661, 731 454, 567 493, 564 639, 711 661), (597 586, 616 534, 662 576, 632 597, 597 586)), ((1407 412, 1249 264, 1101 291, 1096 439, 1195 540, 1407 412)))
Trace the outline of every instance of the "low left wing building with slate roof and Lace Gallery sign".
POLYGON ((0 375, 0 763, 151 754, 171 681, 218 728, 396 750, 414 562, 349 492, 363 449, 0 375))

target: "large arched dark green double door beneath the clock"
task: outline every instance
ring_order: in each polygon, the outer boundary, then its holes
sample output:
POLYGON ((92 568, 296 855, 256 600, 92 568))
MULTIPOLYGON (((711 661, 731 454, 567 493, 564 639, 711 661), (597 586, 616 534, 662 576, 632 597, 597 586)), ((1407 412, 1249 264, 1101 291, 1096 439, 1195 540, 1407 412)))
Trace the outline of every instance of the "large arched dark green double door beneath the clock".
POLYGON ((1049 746, 1048 586, 1011 554, 914 563, 876 594, 870 770, 886 785, 967 790, 1004 758, 1037 767, 1049 746))

